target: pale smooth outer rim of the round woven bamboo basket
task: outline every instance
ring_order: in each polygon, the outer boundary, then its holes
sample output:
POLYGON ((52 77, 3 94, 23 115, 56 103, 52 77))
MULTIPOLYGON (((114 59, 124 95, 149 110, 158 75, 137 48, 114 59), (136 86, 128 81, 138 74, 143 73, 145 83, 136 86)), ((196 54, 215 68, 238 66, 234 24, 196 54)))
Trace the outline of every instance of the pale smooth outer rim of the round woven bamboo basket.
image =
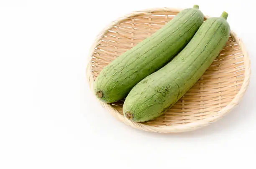
MULTIPOLYGON (((89 87, 90 89, 93 91, 93 75, 92 75, 92 66, 91 66, 91 58, 92 58, 92 54, 94 53, 94 49, 97 47, 97 45, 100 44, 101 42, 101 38, 103 37, 103 35, 105 35, 105 33, 108 32, 108 30, 110 30, 111 28, 113 28, 115 25, 117 25, 118 23, 123 22, 124 20, 129 19, 130 17, 133 16, 137 16, 137 15, 148 15, 154 12, 162 12, 162 11, 166 11, 166 12, 180 12, 183 9, 179 9, 179 8, 149 8, 146 10, 140 10, 140 11, 134 11, 128 15, 124 15, 120 18, 118 18, 117 20, 114 20, 113 22, 111 22, 108 26, 106 26, 95 38, 94 43, 92 44, 92 47, 90 48, 90 52, 89 52, 89 57, 88 57, 88 61, 87 61, 87 68, 86 68, 86 76, 87 76, 87 81, 89 83, 89 87)), ((205 15, 205 18, 209 18, 209 16, 205 15)), ((240 91, 236 94, 235 98, 233 98, 233 100, 224 108, 222 108, 220 111, 218 111, 216 116, 212 116, 212 117, 208 117, 206 119, 202 119, 200 121, 196 121, 196 122, 191 122, 188 124, 180 124, 180 125, 174 125, 174 126, 149 126, 146 124, 142 124, 142 123, 138 123, 138 122, 133 122, 127 118, 125 118, 125 116, 121 115, 115 108, 113 108, 110 104, 105 103, 103 101, 100 101, 100 99, 98 99, 96 96, 95 98, 97 98, 97 100, 100 102, 100 104, 104 107, 107 108, 108 111, 110 111, 110 113, 118 120, 122 121, 123 123, 136 128, 136 129, 141 129, 144 131, 151 131, 151 132, 158 132, 158 133, 179 133, 179 132, 185 132, 185 131, 192 131, 204 126, 207 126, 215 121, 217 121, 218 119, 221 119, 223 116, 225 116, 225 114, 228 114, 228 112, 230 112, 238 103, 239 101, 241 101, 241 99, 243 98, 244 93, 246 92, 246 89, 248 88, 248 84, 250 81, 250 75, 251 75, 251 66, 250 66, 250 58, 248 56, 248 52, 243 44, 243 41, 241 40, 241 38, 239 38, 236 33, 234 33, 232 30, 230 31, 230 35, 236 40, 236 42, 238 43, 238 45, 240 45, 242 53, 243 53, 243 61, 244 61, 244 66, 245 66, 245 73, 244 73, 244 81, 242 84, 242 87, 240 89, 240 91)))

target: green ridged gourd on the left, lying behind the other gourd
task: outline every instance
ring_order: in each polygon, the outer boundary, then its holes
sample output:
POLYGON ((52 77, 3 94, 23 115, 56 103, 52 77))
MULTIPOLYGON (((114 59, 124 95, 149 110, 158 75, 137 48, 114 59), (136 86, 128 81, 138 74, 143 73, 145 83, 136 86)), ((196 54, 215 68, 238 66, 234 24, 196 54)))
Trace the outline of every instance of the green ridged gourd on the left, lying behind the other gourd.
POLYGON ((96 78, 94 91, 107 103, 121 100, 143 78, 179 53, 203 23, 198 6, 182 10, 163 28, 126 51, 96 78))

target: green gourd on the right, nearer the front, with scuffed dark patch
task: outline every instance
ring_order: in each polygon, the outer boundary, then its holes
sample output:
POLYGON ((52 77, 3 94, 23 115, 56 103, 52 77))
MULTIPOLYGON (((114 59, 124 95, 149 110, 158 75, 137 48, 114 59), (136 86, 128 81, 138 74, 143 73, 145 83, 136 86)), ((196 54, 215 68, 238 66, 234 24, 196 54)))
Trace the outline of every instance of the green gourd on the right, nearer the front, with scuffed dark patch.
POLYGON ((228 14, 209 18, 187 46, 166 66, 140 81, 128 94, 123 112, 133 121, 154 119, 176 103, 225 46, 230 28, 228 14))

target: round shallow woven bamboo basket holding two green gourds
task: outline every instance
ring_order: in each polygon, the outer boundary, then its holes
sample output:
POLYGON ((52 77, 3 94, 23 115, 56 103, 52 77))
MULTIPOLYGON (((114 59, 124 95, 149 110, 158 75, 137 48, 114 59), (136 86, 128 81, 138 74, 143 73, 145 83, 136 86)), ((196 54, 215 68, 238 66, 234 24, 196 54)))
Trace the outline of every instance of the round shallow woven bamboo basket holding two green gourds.
MULTIPOLYGON (((182 9, 153 8, 118 18, 97 36, 89 55, 87 79, 90 88, 100 71, 111 61, 131 49, 165 25, 182 9)), ((207 19, 208 16, 205 16, 207 19)), ((241 100, 250 79, 250 59, 237 35, 230 38, 218 57, 199 81, 162 116, 137 123, 123 116, 123 102, 101 105, 116 119, 144 131, 178 133, 192 131, 217 121, 241 100)))

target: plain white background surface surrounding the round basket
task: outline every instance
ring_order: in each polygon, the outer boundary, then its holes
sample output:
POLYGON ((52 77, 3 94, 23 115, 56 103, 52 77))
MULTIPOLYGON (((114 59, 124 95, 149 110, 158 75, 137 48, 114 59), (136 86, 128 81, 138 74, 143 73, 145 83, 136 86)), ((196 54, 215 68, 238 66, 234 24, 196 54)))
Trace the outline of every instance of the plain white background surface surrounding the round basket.
POLYGON ((255 169, 256 3, 251 0, 0 0, 0 169, 255 169), (251 83, 225 118, 156 134, 117 121, 85 76, 97 33, 119 16, 190 8, 228 22, 251 57, 251 83))

